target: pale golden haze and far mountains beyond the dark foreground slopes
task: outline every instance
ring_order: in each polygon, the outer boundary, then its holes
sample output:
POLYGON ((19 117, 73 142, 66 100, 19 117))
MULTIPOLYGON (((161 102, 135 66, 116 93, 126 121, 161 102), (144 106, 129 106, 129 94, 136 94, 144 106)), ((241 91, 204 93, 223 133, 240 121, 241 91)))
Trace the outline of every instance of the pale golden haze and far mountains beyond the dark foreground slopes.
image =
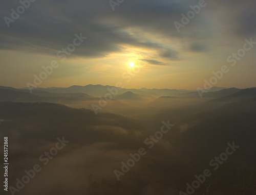
POLYGON ((153 114, 163 109, 201 104, 210 100, 230 102, 231 100, 250 99, 256 95, 255 88, 212 87, 207 91, 203 94, 203 98, 200 98, 196 90, 125 89, 108 85, 74 85, 67 88, 37 88, 30 93, 27 88, 15 89, 0 86, 0 101, 50 102, 65 104, 73 108, 91 109, 95 113, 111 112, 137 118, 146 117, 147 114, 142 114, 145 111, 148 114, 153 114), (103 103, 105 104, 104 108, 97 111, 93 108, 93 105, 103 103))

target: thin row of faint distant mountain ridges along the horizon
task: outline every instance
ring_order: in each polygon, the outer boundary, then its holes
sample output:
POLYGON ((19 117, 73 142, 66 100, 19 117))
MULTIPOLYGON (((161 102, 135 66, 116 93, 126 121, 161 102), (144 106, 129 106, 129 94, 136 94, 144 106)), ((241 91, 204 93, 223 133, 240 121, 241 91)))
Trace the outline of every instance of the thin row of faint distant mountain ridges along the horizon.
MULTIPOLYGON (((109 93, 110 89, 115 88, 117 95, 114 99, 119 100, 143 100, 143 99, 174 99, 177 97, 199 97, 196 90, 183 90, 183 89, 125 89, 116 88, 114 86, 103 85, 86 85, 79 86, 73 85, 70 87, 49 87, 49 88, 36 88, 32 90, 32 93, 27 88, 15 89, 12 87, 0 86, 0 101, 21 101, 21 102, 58 102, 58 101, 84 101, 97 99, 98 96, 104 96, 109 93)), ((203 98, 218 99, 225 97, 223 101, 228 99, 244 99, 249 96, 255 96, 255 88, 238 89, 238 88, 224 88, 224 87, 212 87, 207 89, 207 93, 203 93, 203 98), (233 95, 225 97, 228 95, 233 95)), ((221 101, 221 100, 219 100, 221 101)), ((58 102, 59 103, 59 102, 58 102)))

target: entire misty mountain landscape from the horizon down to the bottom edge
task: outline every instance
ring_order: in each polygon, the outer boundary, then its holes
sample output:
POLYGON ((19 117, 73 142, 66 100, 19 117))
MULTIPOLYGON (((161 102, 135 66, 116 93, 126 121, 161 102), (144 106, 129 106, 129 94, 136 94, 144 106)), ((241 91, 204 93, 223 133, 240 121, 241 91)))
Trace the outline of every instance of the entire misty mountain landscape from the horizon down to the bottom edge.
POLYGON ((30 93, 0 87, 0 135, 9 137, 9 156, 15 159, 10 161, 10 186, 16 186, 25 169, 42 167, 15 195, 182 194, 206 168, 212 175, 195 195, 255 195, 256 88, 215 87, 202 99, 197 91, 118 89, 95 114, 91 105, 99 105, 97 95, 104 97, 108 88, 112 86, 38 88, 30 93), (163 122, 174 126, 161 139, 145 142, 163 122), (44 165, 39 156, 62 136, 69 143, 44 165), (209 161, 225 152, 227 143, 239 149, 215 170, 209 161), (118 178, 114 170, 121 171, 121 163, 141 147, 146 155, 118 178))

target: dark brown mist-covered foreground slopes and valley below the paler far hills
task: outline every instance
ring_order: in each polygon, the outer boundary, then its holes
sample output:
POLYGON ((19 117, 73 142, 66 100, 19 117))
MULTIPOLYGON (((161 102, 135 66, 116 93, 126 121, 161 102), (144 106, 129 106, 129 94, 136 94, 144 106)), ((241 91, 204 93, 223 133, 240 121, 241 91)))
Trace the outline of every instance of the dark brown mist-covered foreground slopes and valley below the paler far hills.
POLYGON ((154 126, 58 104, 2 102, 0 134, 9 137, 9 184, 15 187, 25 170, 38 164, 40 172, 15 194, 179 194, 209 169, 211 176, 193 194, 208 187, 208 194, 256 194, 256 101, 196 113, 176 118, 150 148, 145 139, 160 131, 166 118, 154 126), (192 120, 193 126, 181 128, 192 120), (63 137, 66 145, 51 155, 63 137), (226 152, 228 142, 239 148, 215 170, 209 162, 226 152), (121 162, 140 148, 146 154, 118 181, 114 170, 121 171, 121 162))

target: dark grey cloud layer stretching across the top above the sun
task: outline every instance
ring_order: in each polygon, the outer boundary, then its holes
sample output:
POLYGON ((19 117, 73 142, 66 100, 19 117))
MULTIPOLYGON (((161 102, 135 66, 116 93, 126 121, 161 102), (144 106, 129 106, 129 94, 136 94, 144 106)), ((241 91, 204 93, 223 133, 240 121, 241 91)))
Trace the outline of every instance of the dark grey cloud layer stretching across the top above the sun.
MULTIPOLYGON (((201 12, 218 13, 218 9, 225 9, 227 15, 234 16, 229 21, 233 23, 231 25, 233 29, 228 29, 228 32, 240 36, 255 33, 256 15, 253 1, 206 3, 207 7, 202 8, 201 12), (243 7, 243 9, 236 13, 232 7, 243 7)), ((131 45, 151 48, 159 57, 173 60, 178 58, 175 49, 170 50, 169 45, 163 45, 159 40, 153 40, 154 38, 147 38, 146 34, 166 40, 176 38, 182 44, 186 44, 184 40, 191 42, 195 37, 201 37, 205 42, 211 38, 211 35, 206 33, 207 17, 201 12, 183 29, 184 31, 178 33, 174 26, 174 21, 180 22, 181 14, 186 14, 190 10, 189 6, 197 5, 197 1, 124 1, 115 7, 115 11, 108 1, 103 0, 76 0, 65 3, 36 1, 31 3, 15 22, 10 23, 10 28, 7 28, 3 18, 10 17, 11 9, 16 10, 20 3, 8 1, 2 4, 0 8, 2 49, 55 55, 57 51, 72 43, 75 33, 82 33, 88 39, 76 48, 73 55, 103 57, 114 52, 122 52, 122 45, 131 45), (130 31, 131 28, 139 32, 133 33, 130 31), (140 36, 144 37, 143 41, 140 36)), ((203 46, 195 44, 190 48, 192 51, 204 50, 203 46)))

